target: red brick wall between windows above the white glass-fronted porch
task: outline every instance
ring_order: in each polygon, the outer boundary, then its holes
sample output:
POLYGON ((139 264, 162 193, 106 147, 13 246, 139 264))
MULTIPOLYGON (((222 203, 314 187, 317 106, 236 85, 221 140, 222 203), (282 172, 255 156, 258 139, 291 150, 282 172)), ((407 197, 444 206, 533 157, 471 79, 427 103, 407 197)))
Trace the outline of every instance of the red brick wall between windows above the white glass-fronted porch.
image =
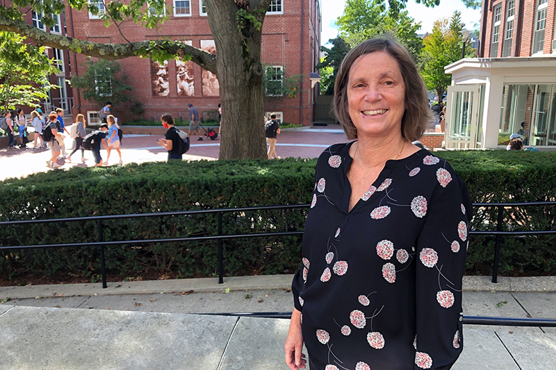
MULTIPOLYGON (((500 22, 500 41, 498 42, 498 55, 502 56, 504 42, 504 28, 506 26, 506 6, 507 0, 484 0, 488 1, 486 6, 486 29, 484 35, 481 35, 481 43, 484 45, 484 57, 490 58, 491 42, 492 42, 492 22, 493 8, 498 4, 502 5, 502 21, 500 22)), ((512 56, 528 57, 531 56, 532 42, 534 35, 534 17, 537 12, 537 0, 516 0, 514 21, 514 37, 513 42, 517 44, 516 54, 514 55, 514 45, 512 45, 512 56), (517 3, 519 1, 519 3, 517 3)), ((554 35, 554 22, 556 12, 556 1, 548 0, 548 8, 546 14, 546 28, 544 33, 543 54, 552 53, 552 40, 554 35)), ((493 57, 493 56, 492 56, 493 57)))

